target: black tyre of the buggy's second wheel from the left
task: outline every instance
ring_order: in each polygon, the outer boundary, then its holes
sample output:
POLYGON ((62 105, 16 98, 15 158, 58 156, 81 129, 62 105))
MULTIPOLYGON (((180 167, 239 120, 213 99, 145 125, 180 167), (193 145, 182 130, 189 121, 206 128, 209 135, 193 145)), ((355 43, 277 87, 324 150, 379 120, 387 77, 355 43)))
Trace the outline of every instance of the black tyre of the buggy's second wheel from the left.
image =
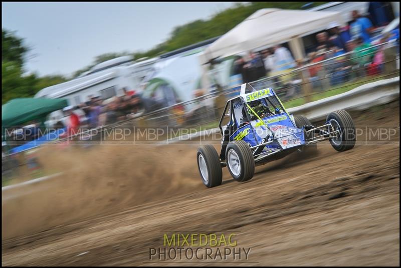
POLYGON ((243 140, 232 141, 227 145, 226 149, 226 161, 227 161, 227 168, 236 181, 247 181, 252 179, 255 174, 255 158, 252 154, 252 150, 249 148, 248 143, 243 140), (231 170, 229 161, 229 153, 233 150, 235 153, 233 155, 238 156, 238 164, 240 167, 239 172, 235 172, 231 170), (236 174, 238 173, 238 174, 236 174))

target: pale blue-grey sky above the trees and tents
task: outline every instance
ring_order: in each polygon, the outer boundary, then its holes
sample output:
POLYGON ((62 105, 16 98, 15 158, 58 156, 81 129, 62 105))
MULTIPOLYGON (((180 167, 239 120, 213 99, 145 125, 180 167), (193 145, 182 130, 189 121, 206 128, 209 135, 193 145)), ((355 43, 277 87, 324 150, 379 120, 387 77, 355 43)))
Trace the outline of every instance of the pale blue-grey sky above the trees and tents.
POLYGON ((71 76, 96 56, 146 51, 176 26, 214 14, 234 2, 2 3, 2 27, 31 48, 29 73, 71 76))

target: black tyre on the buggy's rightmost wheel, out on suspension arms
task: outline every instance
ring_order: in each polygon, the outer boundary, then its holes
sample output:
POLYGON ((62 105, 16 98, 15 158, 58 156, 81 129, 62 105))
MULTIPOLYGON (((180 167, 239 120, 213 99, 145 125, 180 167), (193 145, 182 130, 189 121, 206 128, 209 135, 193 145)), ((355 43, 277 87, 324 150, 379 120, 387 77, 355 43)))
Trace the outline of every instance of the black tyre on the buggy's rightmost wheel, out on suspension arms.
MULTIPOLYGON (((329 139, 331 146, 339 152, 347 151, 355 146, 356 131, 351 116, 345 110, 338 110, 327 115, 326 124, 331 122, 334 129, 339 128, 341 136, 329 139)), ((330 129, 329 129, 330 130, 330 129)))

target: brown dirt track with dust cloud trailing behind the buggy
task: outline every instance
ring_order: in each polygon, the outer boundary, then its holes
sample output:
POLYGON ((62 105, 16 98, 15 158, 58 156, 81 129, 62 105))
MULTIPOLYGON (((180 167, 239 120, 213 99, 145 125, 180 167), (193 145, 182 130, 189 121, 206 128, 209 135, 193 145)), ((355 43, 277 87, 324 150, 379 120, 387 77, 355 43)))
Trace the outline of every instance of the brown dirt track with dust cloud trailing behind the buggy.
POLYGON ((319 155, 258 167, 242 184, 225 168, 212 189, 197 145, 49 148, 47 163, 69 171, 3 200, 2 264, 177 265, 146 262, 163 232, 215 230, 238 232, 250 262, 182 265, 398 266, 398 114, 398 104, 353 114, 357 126, 395 126, 391 141, 366 145, 363 133, 344 153, 323 142, 319 155))

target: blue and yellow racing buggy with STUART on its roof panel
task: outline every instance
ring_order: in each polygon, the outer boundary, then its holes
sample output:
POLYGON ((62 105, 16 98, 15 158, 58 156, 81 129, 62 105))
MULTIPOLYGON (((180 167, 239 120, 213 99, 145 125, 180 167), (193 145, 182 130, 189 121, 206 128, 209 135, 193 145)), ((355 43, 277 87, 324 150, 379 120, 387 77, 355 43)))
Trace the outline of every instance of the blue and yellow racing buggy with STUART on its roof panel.
POLYGON ((236 181, 250 180, 255 166, 266 164, 298 151, 313 154, 317 143, 329 140, 343 152, 354 147, 355 125, 344 110, 331 112, 322 126, 313 126, 305 116, 288 113, 272 88, 255 90, 248 83, 240 96, 227 101, 219 128, 220 155, 212 145, 197 150, 197 165, 207 187, 222 183, 222 168, 228 168, 236 181), (227 123, 226 123, 227 122, 227 123))

